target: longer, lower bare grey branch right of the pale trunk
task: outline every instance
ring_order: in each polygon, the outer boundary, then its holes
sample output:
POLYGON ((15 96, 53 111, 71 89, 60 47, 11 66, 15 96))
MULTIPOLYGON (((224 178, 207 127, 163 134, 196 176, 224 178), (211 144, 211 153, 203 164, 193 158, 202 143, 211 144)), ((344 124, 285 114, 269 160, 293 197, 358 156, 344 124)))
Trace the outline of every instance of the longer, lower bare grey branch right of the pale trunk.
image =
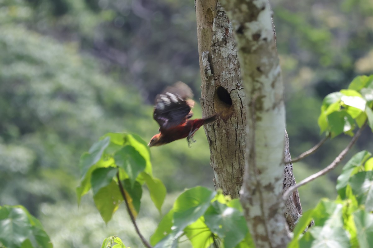
POLYGON ((316 178, 321 177, 322 175, 325 175, 329 171, 333 170, 339 164, 339 162, 342 161, 342 159, 345 157, 345 155, 347 154, 347 152, 350 151, 351 147, 355 144, 355 142, 357 141, 357 139, 361 135, 361 132, 363 132, 363 129, 365 128, 366 125, 367 125, 367 122, 365 122, 364 125, 361 126, 361 128, 355 133, 355 135, 354 135, 354 137, 352 137, 350 143, 346 146, 345 149, 343 149, 343 151, 335 158, 335 160, 331 164, 329 164, 327 167, 325 167, 321 171, 319 171, 319 172, 317 172, 317 173, 315 173, 313 175, 310 175, 309 177, 307 177, 304 180, 300 181, 300 183, 298 183, 297 185, 294 185, 294 186, 290 187, 283 194, 282 199, 283 200, 288 199, 288 197, 290 196, 290 194, 293 193, 300 186, 303 186, 304 184, 307 184, 310 181, 313 181, 316 178))

